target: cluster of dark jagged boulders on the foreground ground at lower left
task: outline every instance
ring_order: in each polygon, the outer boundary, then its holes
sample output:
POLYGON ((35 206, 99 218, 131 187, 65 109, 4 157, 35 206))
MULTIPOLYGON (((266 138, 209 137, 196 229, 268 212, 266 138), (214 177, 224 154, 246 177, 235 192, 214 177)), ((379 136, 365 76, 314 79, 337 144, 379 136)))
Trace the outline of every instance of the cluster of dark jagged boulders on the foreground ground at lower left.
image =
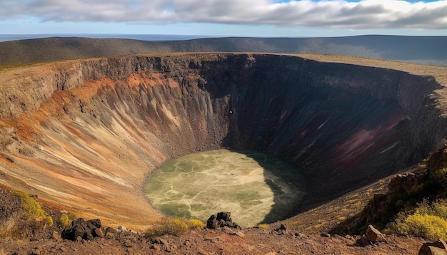
POLYGON ((79 239, 91 240, 96 236, 104 237, 104 229, 101 226, 100 219, 85 221, 83 218, 79 218, 71 222, 71 227, 62 231, 62 238, 72 241, 79 239))

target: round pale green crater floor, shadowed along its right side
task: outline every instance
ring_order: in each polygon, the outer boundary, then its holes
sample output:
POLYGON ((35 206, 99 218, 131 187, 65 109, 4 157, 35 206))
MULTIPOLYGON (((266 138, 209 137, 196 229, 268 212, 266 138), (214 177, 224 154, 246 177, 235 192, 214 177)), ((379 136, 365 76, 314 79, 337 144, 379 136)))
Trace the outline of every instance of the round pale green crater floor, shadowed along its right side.
POLYGON ((212 150, 171 160, 149 176, 146 195, 164 214, 206 221, 231 212, 243 227, 296 212, 303 178, 286 162, 261 152, 212 150))

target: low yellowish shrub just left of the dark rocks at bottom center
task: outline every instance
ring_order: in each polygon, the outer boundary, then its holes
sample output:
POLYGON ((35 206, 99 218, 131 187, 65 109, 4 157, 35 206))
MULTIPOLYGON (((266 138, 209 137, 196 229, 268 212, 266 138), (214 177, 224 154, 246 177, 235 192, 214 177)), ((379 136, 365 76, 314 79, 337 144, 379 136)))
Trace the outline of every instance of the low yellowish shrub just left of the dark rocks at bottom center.
POLYGON ((163 236, 165 234, 179 236, 188 229, 204 228, 205 224, 199 219, 170 218, 165 217, 155 222, 146 231, 147 236, 163 236))

